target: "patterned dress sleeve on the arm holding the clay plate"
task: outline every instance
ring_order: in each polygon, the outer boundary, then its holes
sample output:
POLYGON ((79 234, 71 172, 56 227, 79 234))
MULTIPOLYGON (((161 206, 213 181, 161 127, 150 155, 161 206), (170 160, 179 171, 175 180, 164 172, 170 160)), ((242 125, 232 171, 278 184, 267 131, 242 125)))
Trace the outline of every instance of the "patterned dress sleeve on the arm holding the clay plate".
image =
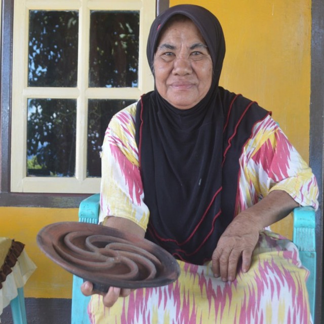
POLYGON ((135 142, 134 109, 118 112, 106 130, 101 152, 100 217, 127 218, 146 231, 149 211, 144 204, 143 184, 135 142))

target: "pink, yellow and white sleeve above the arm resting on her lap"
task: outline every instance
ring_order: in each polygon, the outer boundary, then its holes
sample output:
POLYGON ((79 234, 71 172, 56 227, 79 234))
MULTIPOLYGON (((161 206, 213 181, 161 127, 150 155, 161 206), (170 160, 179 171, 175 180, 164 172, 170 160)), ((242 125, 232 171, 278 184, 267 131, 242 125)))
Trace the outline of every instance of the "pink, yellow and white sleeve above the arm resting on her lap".
POLYGON ((248 208, 272 190, 284 190, 301 206, 318 208, 311 169, 275 121, 257 123, 240 157, 239 205, 248 208))

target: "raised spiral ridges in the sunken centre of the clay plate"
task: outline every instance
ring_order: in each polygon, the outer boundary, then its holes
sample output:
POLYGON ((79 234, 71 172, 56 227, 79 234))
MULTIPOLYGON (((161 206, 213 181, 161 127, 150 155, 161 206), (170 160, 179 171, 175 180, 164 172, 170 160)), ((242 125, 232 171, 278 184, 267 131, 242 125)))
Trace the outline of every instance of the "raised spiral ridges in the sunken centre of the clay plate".
POLYGON ((103 279, 149 280, 163 267, 156 256, 134 242, 92 231, 65 233, 54 249, 70 264, 103 279))

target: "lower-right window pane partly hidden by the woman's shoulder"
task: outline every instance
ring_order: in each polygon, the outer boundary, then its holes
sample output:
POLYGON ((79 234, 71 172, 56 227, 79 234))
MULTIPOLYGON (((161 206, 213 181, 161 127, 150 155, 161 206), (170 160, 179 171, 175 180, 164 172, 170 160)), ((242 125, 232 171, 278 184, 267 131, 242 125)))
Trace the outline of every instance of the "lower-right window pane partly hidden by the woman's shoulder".
POLYGON ((87 177, 101 177, 100 151, 111 117, 135 100, 89 100, 87 177))

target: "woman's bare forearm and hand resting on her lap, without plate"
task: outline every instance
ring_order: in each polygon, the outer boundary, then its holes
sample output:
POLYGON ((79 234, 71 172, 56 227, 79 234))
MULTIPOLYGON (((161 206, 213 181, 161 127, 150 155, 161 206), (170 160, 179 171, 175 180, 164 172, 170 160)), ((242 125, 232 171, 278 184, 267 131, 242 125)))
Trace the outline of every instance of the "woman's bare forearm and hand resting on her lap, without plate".
POLYGON ((220 237, 213 253, 215 277, 220 276, 223 281, 234 280, 240 258, 242 271, 247 272, 259 232, 287 216, 295 207, 298 204, 286 191, 273 190, 257 204, 239 213, 220 237))

